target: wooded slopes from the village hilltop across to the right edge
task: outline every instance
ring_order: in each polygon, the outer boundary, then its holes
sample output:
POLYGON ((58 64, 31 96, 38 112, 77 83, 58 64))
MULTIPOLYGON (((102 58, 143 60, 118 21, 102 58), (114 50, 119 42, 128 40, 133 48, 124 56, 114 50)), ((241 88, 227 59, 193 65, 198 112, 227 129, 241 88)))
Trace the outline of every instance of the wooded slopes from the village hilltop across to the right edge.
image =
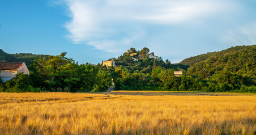
MULTIPOLYGON (((149 52, 148 48, 143 50, 149 52)), ((115 89, 256 92, 255 45, 210 52, 175 65, 170 64, 169 60, 164 62, 142 57, 143 50, 135 51, 139 55, 130 56, 129 52, 118 57, 117 66, 110 69, 115 89), (173 74, 178 70, 184 71, 181 77, 173 74)))

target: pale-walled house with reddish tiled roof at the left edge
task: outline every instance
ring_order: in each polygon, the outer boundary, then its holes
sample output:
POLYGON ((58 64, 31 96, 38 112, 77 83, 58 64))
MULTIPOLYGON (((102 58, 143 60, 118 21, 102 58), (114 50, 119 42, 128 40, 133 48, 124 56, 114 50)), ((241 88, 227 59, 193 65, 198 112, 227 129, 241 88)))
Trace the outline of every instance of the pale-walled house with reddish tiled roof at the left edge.
POLYGON ((0 62, 0 71, 3 82, 15 78, 15 75, 19 73, 29 75, 25 62, 0 62))

